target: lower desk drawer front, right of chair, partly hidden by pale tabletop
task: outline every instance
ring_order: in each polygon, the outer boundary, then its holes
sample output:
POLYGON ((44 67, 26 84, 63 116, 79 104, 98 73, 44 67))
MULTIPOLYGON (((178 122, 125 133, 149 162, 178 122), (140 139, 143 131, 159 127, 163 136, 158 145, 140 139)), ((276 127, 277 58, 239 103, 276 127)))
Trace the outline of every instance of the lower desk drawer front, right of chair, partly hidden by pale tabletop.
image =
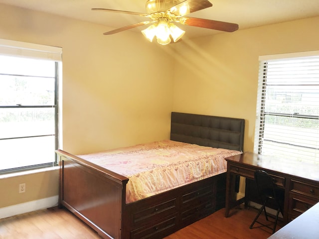
POLYGON ((317 202, 317 200, 291 193, 289 196, 289 214, 298 217, 314 206, 317 202))

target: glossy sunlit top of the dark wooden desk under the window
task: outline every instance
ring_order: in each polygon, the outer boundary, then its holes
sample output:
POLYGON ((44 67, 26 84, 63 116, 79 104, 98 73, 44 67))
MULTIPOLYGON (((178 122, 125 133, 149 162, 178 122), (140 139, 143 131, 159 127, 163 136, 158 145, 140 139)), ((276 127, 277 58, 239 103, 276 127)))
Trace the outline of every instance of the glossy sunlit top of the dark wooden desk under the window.
POLYGON ((276 156, 265 156, 251 152, 225 158, 227 161, 264 168, 297 177, 319 181, 319 163, 300 162, 276 156))

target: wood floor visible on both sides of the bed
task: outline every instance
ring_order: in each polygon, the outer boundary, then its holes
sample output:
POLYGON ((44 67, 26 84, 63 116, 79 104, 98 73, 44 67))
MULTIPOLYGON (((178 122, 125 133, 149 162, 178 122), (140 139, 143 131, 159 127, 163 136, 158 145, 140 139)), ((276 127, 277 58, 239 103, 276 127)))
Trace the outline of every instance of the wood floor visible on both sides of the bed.
MULTIPOLYGON (((258 224, 249 229, 256 214, 255 209, 240 206, 225 218, 221 209, 165 239, 266 239, 271 236, 270 229, 258 224)), ((263 215, 260 218, 264 219, 263 215)), ((0 239, 101 238, 70 212, 55 207, 1 219, 0 239)))

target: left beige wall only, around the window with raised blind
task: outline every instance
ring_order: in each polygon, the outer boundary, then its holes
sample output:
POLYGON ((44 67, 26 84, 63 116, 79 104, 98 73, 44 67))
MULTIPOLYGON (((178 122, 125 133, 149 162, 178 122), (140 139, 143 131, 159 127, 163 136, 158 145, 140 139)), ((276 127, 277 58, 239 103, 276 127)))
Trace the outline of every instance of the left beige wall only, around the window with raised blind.
MULTIPOLYGON (((172 46, 128 31, 104 36, 108 30, 0 4, 0 38, 63 48, 60 148, 75 154, 169 137, 172 46)), ((0 179, 0 208, 57 195, 57 171, 44 174, 0 179), (25 194, 17 193, 21 181, 25 194)))

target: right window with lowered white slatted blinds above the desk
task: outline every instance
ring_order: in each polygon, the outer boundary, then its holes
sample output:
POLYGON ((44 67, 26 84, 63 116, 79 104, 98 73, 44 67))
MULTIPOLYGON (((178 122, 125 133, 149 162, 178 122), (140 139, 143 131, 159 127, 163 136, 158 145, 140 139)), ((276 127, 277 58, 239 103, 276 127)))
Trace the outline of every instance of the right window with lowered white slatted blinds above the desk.
POLYGON ((260 59, 256 153, 319 163, 319 52, 305 54, 260 59))

